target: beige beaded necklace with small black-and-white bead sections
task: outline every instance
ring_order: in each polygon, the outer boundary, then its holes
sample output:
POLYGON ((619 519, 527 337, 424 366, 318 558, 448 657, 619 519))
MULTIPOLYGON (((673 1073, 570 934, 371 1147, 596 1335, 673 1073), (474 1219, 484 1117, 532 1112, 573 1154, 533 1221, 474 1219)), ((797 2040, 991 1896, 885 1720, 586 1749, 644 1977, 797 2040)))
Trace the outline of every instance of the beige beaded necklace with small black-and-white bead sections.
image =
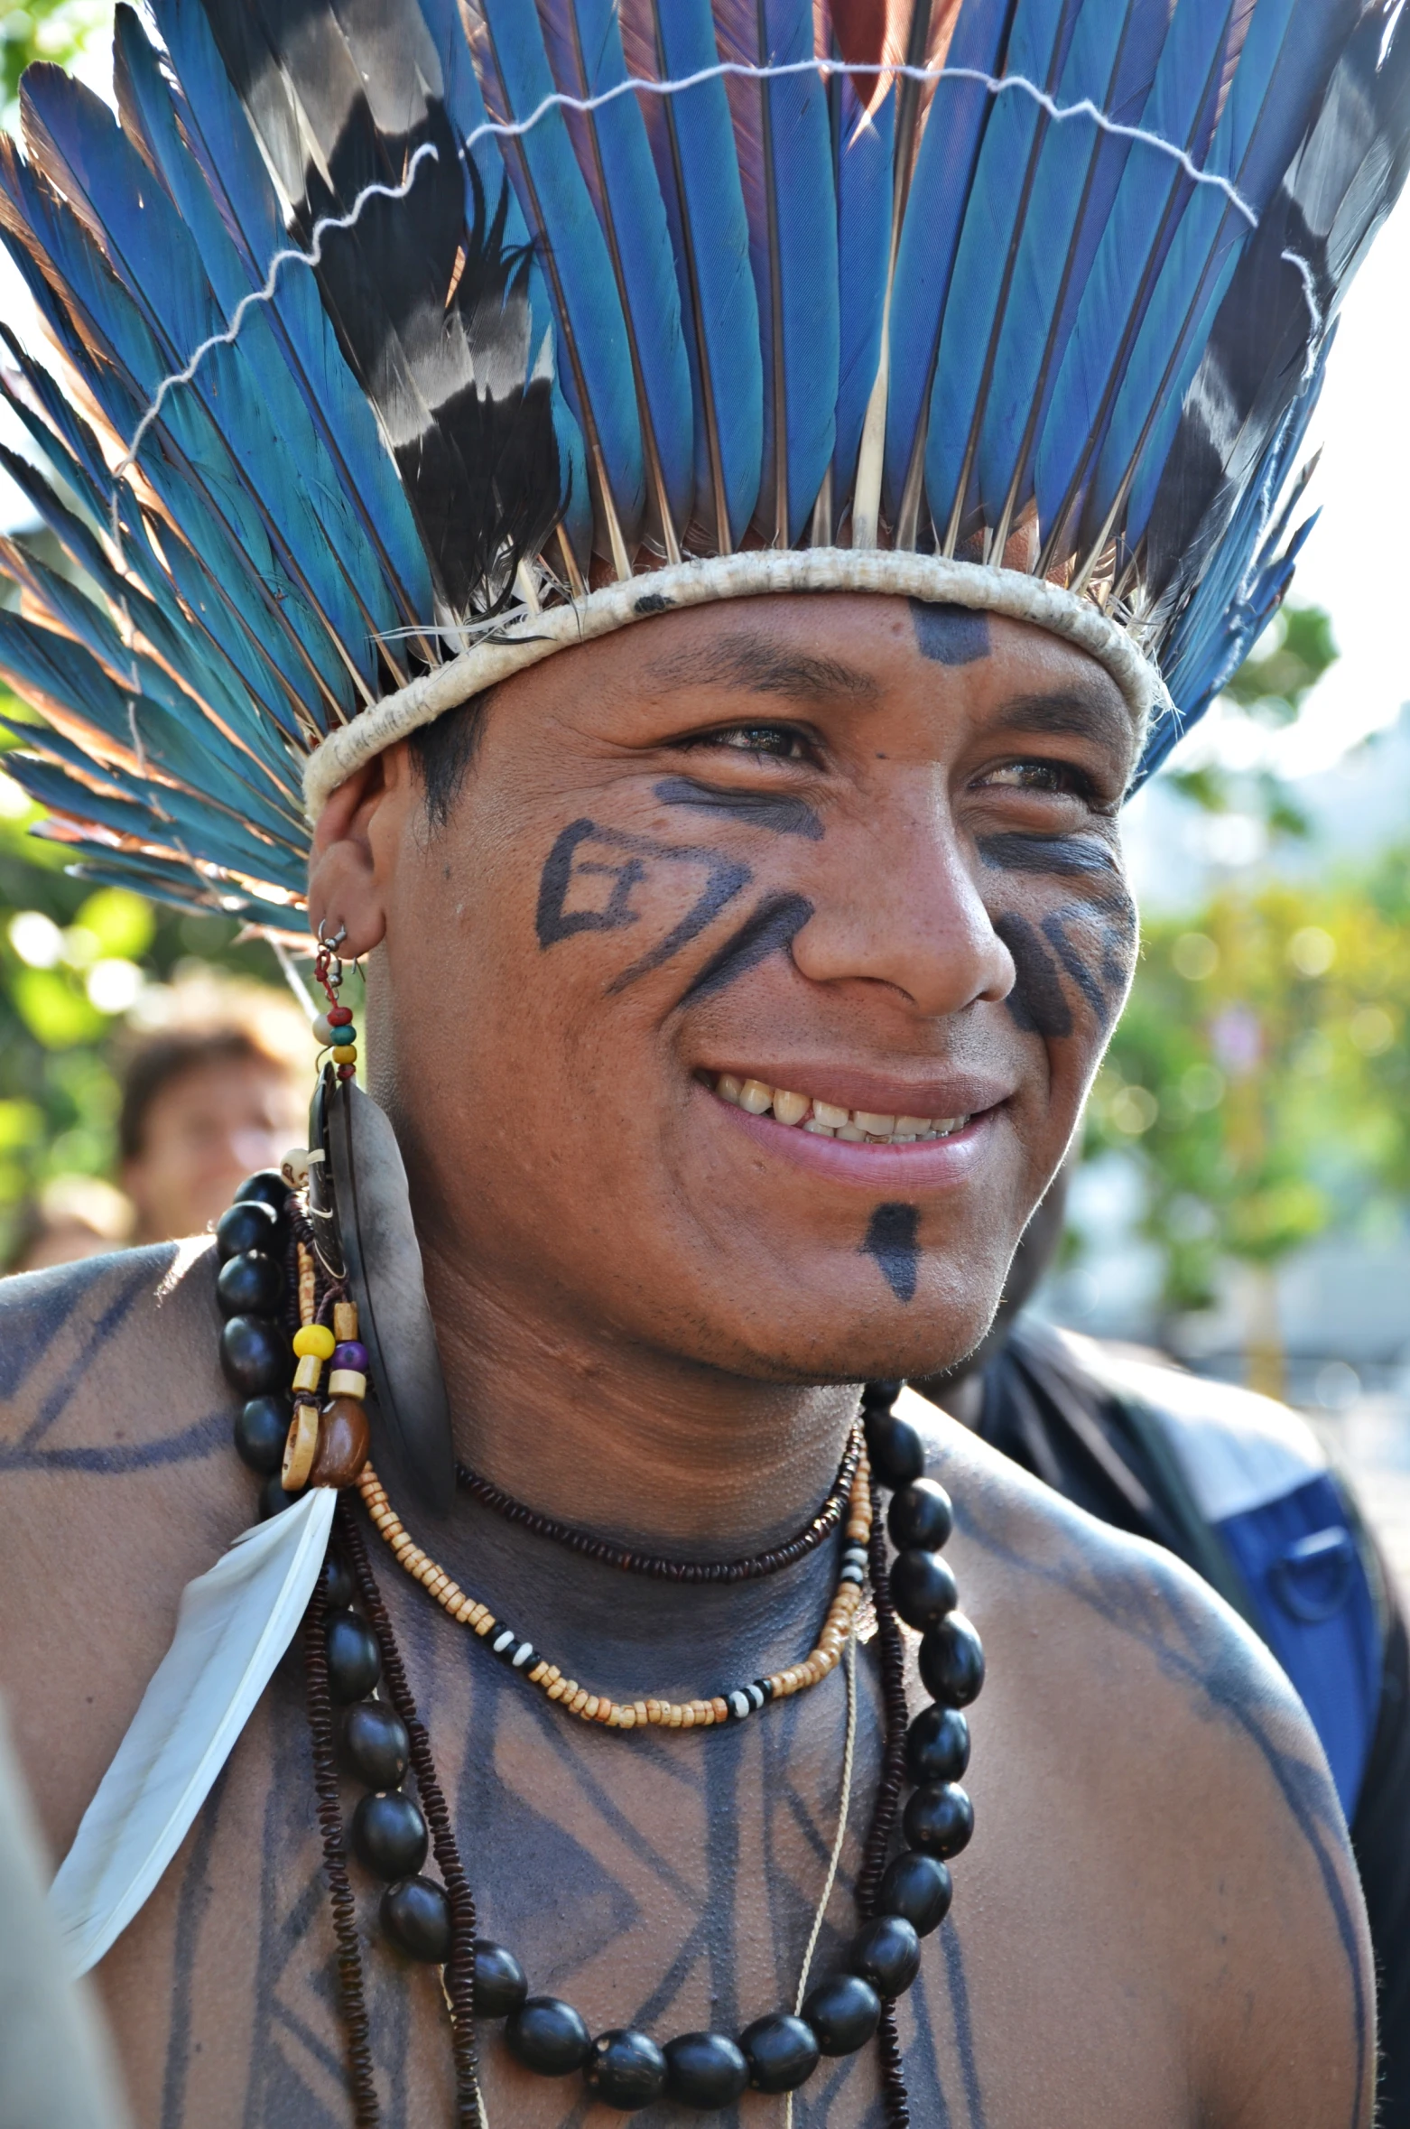
POLYGON ((532 1641, 522 1641, 520 1635, 513 1633, 511 1627, 505 1627, 488 1605, 466 1595, 466 1590, 462 1590, 460 1584, 454 1582, 452 1575, 447 1575, 445 1569, 415 1544, 388 1501, 381 1480, 373 1471, 371 1463, 362 1467, 358 1490, 362 1492, 362 1501, 375 1531, 386 1539, 411 1580, 422 1584, 428 1597, 435 1597, 437 1603, 462 1627, 471 1627, 481 1639, 488 1639, 496 1656, 503 1656, 511 1669, 520 1671, 530 1686, 539 1686, 541 1693, 545 1693, 550 1701, 556 1701, 567 1714, 579 1716, 584 1722, 601 1722, 605 1729, 711 1729, 720 1722, 743 1720, 769 1701, 782 1701, 794 1693, 805 1693, 809 1686, 820 1684, 820 1680, 824 1680, 829 1671, 837 1669, 841 1663, 841 1652, 856 1627, 856 1612, 863 1601, 867 1541, 871 1539, 871 1467, 867 1463, 865 1448, 856 1460, 852 1490, 848 1495, 841 1573, 811 1654, 805 1656, 803 1663, 792 1663, 782 1671, 771 1671, 769 1678, 758 1678, 750 1686, 737 1686, 728 1695, 718 1693, 711 1699, 613 1701, 607 1693, 590 1693, 588 1686, 579 1686, 575 1678, 564 1678, 556 1663, 550 1663, 535 1650, 532 1641))

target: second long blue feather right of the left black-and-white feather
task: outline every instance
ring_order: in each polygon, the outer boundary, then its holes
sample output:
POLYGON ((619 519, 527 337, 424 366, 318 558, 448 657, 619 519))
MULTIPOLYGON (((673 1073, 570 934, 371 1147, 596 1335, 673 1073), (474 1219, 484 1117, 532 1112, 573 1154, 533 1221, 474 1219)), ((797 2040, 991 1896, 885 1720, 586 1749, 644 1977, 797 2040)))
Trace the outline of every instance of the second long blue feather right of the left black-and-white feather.
MULTIPOLYGON (((554 81, 564 94, 586 102, 626 81, 613 0, 539 0, 539 21, 554 81)), ((645 121, 630 94, 594 113, 564 111, 564 121, 607 238, 626 319, 647 528, 656 545, 679 560, 694 485, 690 364, 645 121)))

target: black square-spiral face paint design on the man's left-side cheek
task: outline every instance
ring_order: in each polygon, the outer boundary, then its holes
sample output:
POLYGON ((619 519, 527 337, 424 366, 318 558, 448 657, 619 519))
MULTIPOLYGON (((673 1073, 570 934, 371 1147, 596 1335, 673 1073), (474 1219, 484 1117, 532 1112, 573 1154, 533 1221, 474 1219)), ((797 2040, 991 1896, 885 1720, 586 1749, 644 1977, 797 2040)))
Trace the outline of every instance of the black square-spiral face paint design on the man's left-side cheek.
POLYGON ((575 820, 556 837, 539 875, 539 907, 535 913, 539 950, 558 945, 560 939, 571 939, 575 933, 622 930, 628 924, 637 924, 641 911, 633 909, 630 898, 656 860, 667 864, 701 864, 707 869, 709 879, 694 905, 667 933, 660 945, 654 945, 650 954, 643 954, 630 969, 613 977, 609 990, 624 990, 626 984, 635 984, 650 969, 660 969, 684 945, 690 945, 752 879, 748 864, 735 864, 731 858, 720 856, 718 849, 705 849, 694 843, 658 843, 645 835, 620 835, 616 828, 599 828, 592 820, 575 820), (611 879, 605 901, 603 890, 596 886, 601 879, 611 879), (581 896, 579 907, 569 909, 569 901, 575 894, 581 896))

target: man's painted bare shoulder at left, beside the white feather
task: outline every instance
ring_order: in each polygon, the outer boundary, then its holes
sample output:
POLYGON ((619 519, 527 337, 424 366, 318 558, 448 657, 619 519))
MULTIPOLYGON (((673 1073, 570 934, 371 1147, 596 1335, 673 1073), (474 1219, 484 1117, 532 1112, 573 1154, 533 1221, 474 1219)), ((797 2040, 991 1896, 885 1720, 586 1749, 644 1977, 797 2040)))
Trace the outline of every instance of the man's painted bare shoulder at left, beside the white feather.
POLYGON ((55 1846, 253 1520, 217 1337, 209 1241, 0 1280, 0 1690, 55 1846))

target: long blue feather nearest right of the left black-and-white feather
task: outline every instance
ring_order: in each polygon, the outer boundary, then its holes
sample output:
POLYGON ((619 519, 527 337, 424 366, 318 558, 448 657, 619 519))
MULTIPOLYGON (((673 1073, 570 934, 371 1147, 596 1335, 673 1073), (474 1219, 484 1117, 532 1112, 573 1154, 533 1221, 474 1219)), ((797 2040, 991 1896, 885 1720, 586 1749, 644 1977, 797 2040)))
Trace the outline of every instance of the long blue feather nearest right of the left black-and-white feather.
MULTIPOLYGON (((471 51, 494 119, 526 119, 554 94, 526 0, 464 0, 471 51)), ((560 109, 505 143, 505 162, 554 290, 560 377, 588 449, 596 549, 630 566, 645 511, 630 341, 607 241, 560 109)))

